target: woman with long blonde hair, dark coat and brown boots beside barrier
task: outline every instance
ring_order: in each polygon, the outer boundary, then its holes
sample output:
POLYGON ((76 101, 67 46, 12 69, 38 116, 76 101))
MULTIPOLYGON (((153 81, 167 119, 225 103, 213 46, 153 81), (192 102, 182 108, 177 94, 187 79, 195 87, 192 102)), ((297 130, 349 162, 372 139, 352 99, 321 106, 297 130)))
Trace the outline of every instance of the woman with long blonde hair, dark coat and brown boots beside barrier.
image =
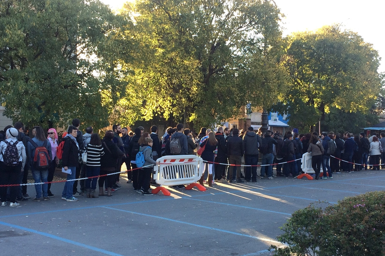
MULTIPOLYGON (((215 138, 215 134, 210 131, 209 132, 209 137, 204 140, 201 143, 201 147, 205 147, 204 151, 201 155, 201 158, 203 161, 211 162, 211 163, 205 163, 203 162, 202 170, 206 170, 206 166, 208 166, 208 171, 209 171, 209 180, 208 180, 208 185, 209 187, 212 186, 213 183, 213 162, 214 162, 214 151, 217 148, 218 141, 215 138)), ((199 183, 203 185, 203 179, 204 179, 204 171, 202 172, 201 179, 199 180, 199 183)))

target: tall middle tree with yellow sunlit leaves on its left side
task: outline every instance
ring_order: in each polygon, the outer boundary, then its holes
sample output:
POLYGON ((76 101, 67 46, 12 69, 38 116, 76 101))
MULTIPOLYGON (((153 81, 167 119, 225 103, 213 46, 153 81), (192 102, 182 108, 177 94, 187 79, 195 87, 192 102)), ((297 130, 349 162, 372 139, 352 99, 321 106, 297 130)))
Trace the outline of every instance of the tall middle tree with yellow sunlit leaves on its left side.
POLYGON ((144 46, 142 65, 123 67, 134 70, 124 79, 135 93, 122 108, 137 117, 182 121, 186 113, 187 122, 212 125, 275 92, 258 94, 282 74, 275 72, 282 70, 275 52, 281 16, 273 1, 144 0, 121 15, 134 18, 132 33, 144 46))

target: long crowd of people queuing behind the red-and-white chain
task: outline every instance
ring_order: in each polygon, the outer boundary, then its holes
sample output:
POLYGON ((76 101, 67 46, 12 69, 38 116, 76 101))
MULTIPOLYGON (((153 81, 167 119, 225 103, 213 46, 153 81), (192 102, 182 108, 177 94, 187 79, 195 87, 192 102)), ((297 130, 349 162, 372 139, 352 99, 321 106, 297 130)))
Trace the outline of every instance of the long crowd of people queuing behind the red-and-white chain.
MULTIPOLYGON (((50 182, 59 164, 62 172, 67 174, 62 191, 62 199, 66 201, 78 201, 76 196, 84 194, 87 198, 112 196, 121 188, 119 176, 123 163, 127 166, 127 183, 132 183, 134 191, 152 195, 150 185, 156 184, 152 165, 159 164, 157 159, 164 155, 200 155, 204 172, 199 183, 208 186, 216 182, 256 182, 257 177, 296 178, 301 173, 300 159, 306 152, 311 153, 316 180, 320 178, 321 166, 322 179, 332 179, 333 173, 367 170, 368 159, 373 170, 385 168, 382 150, 385 133, 373 133, 367 138, 365 133, 354 136, 349 132, 343 135, 287 132, 280 135, 277 131, 267 131, 261 138, 253 127, 246 132, 219 127, 215 133, 203 127, 199 134, 193 135, 179 123, 175 128, 167 128, 159 139, 157 126, 152 126, 151 133, 148 133, 142 126, 128 132, 126 127, 115 124, 101 139, 92 127, 87 127, 84 135, 79 128, 80 120, 75 118, 59 142, 54 128, 50 128, 45 136, 42 127, 34 126, 32 138, 29 138, 21 122, 5 127, 0 133, 1 205, 6 206, 9 201, 9 206, 19 206, 20 202, 31 198, 27 186, 19 186, 27 183, 29 170, 35 183, 42 183, 35 184, 36 196, 32 200, 50 200, 55 196, 50 190, 50 182), (259 154, 262 166, 258 175, 259 154), (138 155, 143 156, 141 165, 137 163, 138 155), (243 157, 246 166, 242 173, 243 157), (276 166, 276 176, 273 175, 273 165, 276 166), (78 184, 76 179, 79 178, 86 179, 78 184)), ((177 185, 173 188, 185 187, 177 185)))

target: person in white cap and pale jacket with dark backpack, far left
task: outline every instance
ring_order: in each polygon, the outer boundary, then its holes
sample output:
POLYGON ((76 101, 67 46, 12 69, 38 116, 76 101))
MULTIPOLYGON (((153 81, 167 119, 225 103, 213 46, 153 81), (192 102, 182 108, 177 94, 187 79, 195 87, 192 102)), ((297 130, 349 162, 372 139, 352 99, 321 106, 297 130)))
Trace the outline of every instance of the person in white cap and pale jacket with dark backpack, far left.
MULTIPOLYGON (((22 141, 17 140, 18 131, 16 128, 8 128, 7 139, 0 143, 0 185, 19 184, 21 170, 24 169, 27 155, 22 141)), ((0 187, 1 205, 7 205, 7 188, 0 187)), ((9 206, 19 206, 16 197, 20 191, 19 186, 10 187, 9 206)))

